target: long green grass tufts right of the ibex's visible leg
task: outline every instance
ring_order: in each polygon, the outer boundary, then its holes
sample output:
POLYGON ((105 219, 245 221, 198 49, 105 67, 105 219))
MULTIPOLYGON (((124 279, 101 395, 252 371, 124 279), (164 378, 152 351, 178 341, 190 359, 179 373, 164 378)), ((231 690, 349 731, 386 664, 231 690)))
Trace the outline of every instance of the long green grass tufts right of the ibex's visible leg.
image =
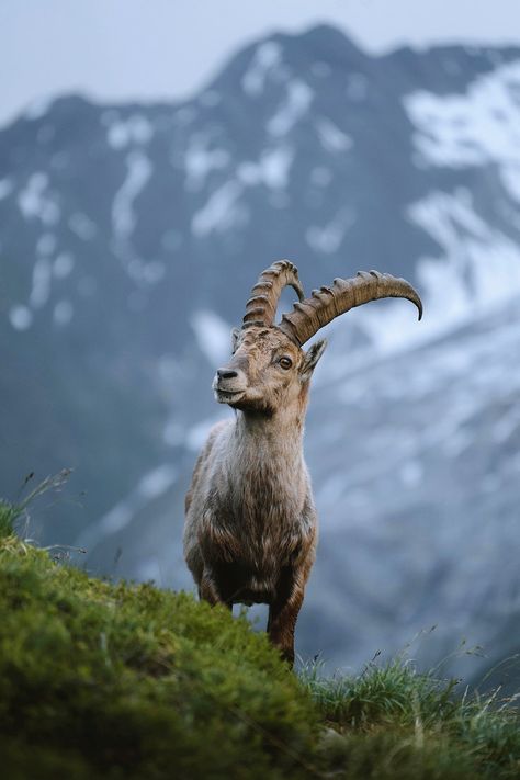
POLYGON ((419 674, 403 657, 331 679, 310 666, 301 680, 341 777, 520 778, 520 717, 499 691, 457 694, 460 682, 419 674))

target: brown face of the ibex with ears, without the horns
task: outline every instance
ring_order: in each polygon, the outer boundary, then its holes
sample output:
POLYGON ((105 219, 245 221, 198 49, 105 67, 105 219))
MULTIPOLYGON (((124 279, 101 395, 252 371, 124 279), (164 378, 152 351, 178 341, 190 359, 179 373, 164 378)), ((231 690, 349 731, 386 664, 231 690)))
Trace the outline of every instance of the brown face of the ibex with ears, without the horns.
POLYGON ((251 326, 233 330, 233 358, 215 374, 219 404, 274 412, 306 397, 308 380, 326 342, 304 352, 279 328, 251 326))

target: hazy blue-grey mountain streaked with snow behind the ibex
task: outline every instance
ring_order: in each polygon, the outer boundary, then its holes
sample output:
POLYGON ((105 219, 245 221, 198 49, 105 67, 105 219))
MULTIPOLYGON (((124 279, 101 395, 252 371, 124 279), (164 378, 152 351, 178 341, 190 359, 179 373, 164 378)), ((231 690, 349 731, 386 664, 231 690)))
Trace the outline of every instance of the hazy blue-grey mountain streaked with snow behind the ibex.
POLYGON ((462 635, 517 649, 519 127, 520 47, 372 57, 327 26, 255 43, 182 104, 31 106, 0 132, 1 493, 74 467, 82 511, 32 531, 191 587, 183 494, 257 275, 377 268, 426 316, 327 328, 299 649, 355 665, 431 623, 428 660, 462 635))

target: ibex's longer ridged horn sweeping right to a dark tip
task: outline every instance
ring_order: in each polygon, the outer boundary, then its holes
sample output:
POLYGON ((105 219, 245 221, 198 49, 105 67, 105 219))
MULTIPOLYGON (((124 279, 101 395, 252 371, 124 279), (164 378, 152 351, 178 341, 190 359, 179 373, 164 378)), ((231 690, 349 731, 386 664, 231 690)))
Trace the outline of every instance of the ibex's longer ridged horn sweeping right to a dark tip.
POLYGON ((377 298, 407 298, 415 303, 422 317, 422 303, 405 279, 389 273, 359 271, 353 279, 335 279, 331 287, 313 290, 309 298, 294 305, 278 326, 301 347, 335 317, 377 298))

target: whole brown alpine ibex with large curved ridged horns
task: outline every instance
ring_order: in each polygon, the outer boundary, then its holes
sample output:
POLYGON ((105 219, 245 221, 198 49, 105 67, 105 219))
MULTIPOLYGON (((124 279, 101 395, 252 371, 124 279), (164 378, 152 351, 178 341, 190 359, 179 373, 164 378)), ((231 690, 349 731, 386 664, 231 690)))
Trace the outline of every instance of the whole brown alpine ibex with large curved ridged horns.
POLYGON ((196 462, 186 495, 184 555, 211 604, 268 603, 268 633, 294 660, 294 629, 315 558, 317 516, 303 457, 309 381, 326 342, 302 344, 335 317, 385 297, 422 304, 403 279, 377 271, 336 279, 304 299, 287 260, 260 275, 233 330, 233 357, 213 381, 215 398, 237 410, 217 423, 196 462), (299 303, 274 325, 286 285, 299 303))

